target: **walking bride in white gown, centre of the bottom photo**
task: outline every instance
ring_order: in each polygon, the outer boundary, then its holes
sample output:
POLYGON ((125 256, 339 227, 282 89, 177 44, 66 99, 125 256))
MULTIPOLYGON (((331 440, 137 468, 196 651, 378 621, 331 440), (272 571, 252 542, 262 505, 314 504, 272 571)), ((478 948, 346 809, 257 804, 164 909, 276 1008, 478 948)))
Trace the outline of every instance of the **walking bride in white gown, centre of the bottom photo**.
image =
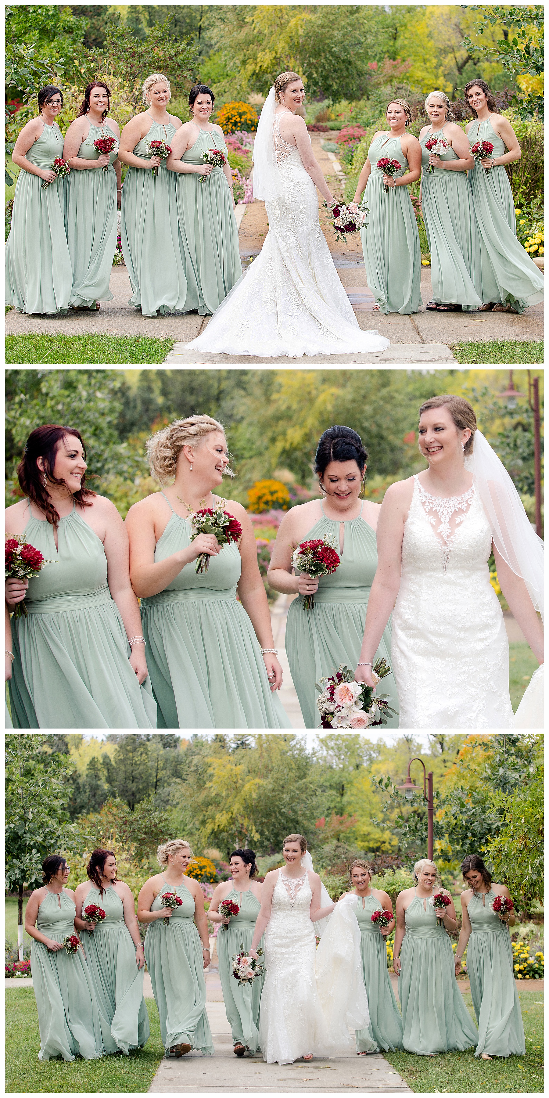
POLYGON ((313 872, 304 836, 288 836, 282 856, 284 869, 265 877, 250 946, 250 956, 257 957, 266 932, 259 1044, 268 1064, 350 1050, 348 1027, 356 1028, 359 1019, 360 1026, 365 1020, 369 1024, 354 911, 338 904, 332 916, 336 905, 313 872), (323 935, 318 950, 315 932, 323 935))

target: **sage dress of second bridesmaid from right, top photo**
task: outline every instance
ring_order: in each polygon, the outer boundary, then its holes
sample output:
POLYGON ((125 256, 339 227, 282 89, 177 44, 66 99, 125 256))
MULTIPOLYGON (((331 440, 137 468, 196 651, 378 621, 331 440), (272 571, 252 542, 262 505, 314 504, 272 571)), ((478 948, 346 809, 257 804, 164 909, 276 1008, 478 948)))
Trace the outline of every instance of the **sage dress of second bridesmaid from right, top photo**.
MULTIPOLYGON (((428 171, 429 150, 425 145, 433 136, 445 137, 445 134, 427 131, 419 137, 422 210, 430 251, 433 300, 461 305, 462 311, 480 309, 480 249, 467 171, 447 168, 428 171)), ((440 159, 459 157, 448 145, 440 159)))

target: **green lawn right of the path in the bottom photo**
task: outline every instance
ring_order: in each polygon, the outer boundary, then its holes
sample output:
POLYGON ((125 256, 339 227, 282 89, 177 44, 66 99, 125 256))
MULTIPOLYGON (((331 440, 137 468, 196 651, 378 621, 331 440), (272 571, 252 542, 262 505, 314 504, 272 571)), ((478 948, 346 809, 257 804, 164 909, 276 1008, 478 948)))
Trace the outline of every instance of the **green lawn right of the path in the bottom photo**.
MULTIPOLYGON (((526 1035, 526 1055, 507 1060, 475 1060, 474 1050, 414 1056, 385 1052, 385 1060, 416 1094, 529 1094, 544 1090, 542 991, 518 993, 526 1035)), ((469 991, 463 996, 474 1018, 469 991)))

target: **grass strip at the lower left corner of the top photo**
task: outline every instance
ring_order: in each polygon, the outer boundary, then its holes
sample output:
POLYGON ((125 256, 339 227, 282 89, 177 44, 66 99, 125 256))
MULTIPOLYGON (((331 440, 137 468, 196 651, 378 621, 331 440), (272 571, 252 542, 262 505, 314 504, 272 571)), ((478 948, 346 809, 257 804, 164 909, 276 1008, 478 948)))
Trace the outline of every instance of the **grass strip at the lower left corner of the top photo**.
POLYGON ((5 337, 5 361, 10 366, 154 366, 164 362, 175 339, 149 336, 29 335, 5 337))

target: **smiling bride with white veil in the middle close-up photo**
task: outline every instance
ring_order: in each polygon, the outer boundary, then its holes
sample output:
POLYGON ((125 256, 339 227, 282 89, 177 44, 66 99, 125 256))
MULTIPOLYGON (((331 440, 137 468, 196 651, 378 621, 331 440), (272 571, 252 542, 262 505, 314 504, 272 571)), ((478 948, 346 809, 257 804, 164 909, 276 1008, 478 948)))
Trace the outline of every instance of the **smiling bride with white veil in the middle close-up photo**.
POLYGON ((531 719, 540 668, 531 702, 513 715, 507 634, 488 569, 493 549, 501 590, 542 663, 542 542, 469 401, 434 396, 422 405, 419 452, 428 469, 392 484, 381 505, 356 679, 374 685, 373 653, 394 606, 400 728, 542 727, 531 719))

